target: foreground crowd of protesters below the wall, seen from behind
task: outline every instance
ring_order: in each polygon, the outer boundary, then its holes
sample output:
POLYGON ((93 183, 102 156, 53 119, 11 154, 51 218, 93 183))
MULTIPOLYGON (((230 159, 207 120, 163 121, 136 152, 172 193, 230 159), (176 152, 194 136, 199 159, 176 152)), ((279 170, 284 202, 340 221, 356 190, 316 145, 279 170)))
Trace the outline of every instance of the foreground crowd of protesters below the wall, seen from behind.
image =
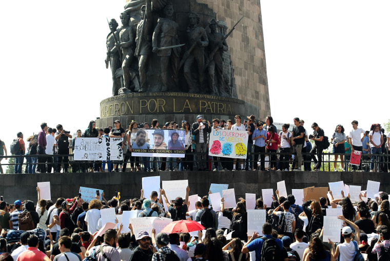
POLYGON ((224 198, 220 204, 211 206, 205 195, 194 203, 196 210, 188 211, 189 191, 187 187, 185 199, 173 200, 160 189, 151 192, 148 198, 142 190, 140 198, 121 202, 116 196, 106 200, 104 193, 102 200, 96 195, 96 199, 83 202, 81 195, 77 195, 53 202, 41 199, 37 188, 35 206, 31 200, 16 200, 14 204, 0 202, 0 260, 82 260, 87 257, 88 260, 111 261, 229 261, 249 260, 252 255, 252 260, 257 261, 352 261, 363 260, 354 259, 362 254, 370 261, 390 260, 390 203, 385 192, 375 199, 360 194, 361 200, 352 202, 349 194, 333 198, 329 191, 329 198, 308 200, 299 205, 294 195, 283 197, 276 191, 277 197, 271 206, 266 206, 261 198, 256 200, 255 210, 265 210, 266 222, 248 234, 245 199, 240 198, 235 208, 226 209, 224 198), (116 229, 104 231, 100 210, 107 208, 114 208, 116 215, 135 210, 139 218, 195 220, 205 230, 199 230, 196 236, 188 232, 156 234, 154 228, 150 234, 145 230, 134 233, 130 222, 130 232, 121 232, 122 223, 118 223, 116 229), (332 208, 342 210, 338 218, 343 226, 337 228, 340 237, 337 244, 332 240, 323 241, 324 216, 327 209, 332 208), (96 235, 102 228, 102 235, 96 235))

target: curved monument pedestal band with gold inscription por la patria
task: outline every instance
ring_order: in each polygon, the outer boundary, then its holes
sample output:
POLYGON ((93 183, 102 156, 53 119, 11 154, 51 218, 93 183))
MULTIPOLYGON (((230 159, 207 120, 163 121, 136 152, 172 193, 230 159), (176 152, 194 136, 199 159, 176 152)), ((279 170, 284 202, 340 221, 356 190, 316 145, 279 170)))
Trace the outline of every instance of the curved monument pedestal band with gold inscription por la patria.
POLYGON ((227 97, 187 92, 141 92, 118 95, 107 98, 100 103, 100 119, 96 126, 104 128, 120 120, 126 128, 131 121, 138 123, 158 119, 160 126, 168 121, 186 120, 190 123, 201 114, 211 122, 213 118, 234 119, 235 115, 246 116, 257 114, 259 108, 245 101, 227 97))

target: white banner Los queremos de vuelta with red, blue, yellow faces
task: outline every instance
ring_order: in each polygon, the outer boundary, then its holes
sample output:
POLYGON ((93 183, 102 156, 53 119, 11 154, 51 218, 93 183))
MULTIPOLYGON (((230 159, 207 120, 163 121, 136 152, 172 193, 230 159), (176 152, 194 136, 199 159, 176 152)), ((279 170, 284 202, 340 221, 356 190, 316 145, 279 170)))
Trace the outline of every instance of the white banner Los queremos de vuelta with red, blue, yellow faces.
POLYGON ((212 129, 209 156, 246 159, 248 136, 242 130, 212 129))

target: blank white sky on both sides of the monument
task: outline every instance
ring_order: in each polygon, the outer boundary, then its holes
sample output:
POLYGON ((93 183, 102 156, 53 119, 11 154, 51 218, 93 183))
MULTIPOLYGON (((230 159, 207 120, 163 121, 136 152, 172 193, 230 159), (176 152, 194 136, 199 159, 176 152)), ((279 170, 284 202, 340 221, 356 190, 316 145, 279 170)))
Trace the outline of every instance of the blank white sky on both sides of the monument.
MULTIPOLYGON (((0 139, 27 139, 47 122, 74 133, 111 96, 106 17, 125 0, 1 1, 0 139), (10 127, 12 126, 12 127, 10 127)), ((387 122, 389 1, 261 1, 271 115, 368 129, 387 122), (387 97, 386 97, 387 96, 387 97)), ((228 40, 229 43, 229 40, 228 40)), ((389 131, 389 130, 387 130, 389 131)))

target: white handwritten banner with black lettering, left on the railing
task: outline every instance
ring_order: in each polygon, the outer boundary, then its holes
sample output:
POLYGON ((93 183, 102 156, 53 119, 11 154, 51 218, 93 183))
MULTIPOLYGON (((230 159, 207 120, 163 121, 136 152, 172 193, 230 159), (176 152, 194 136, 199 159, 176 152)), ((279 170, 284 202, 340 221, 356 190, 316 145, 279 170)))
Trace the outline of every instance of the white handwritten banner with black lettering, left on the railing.
POLYGON ((122 138, 77 138, 74 160, 123 160, 122 138))

